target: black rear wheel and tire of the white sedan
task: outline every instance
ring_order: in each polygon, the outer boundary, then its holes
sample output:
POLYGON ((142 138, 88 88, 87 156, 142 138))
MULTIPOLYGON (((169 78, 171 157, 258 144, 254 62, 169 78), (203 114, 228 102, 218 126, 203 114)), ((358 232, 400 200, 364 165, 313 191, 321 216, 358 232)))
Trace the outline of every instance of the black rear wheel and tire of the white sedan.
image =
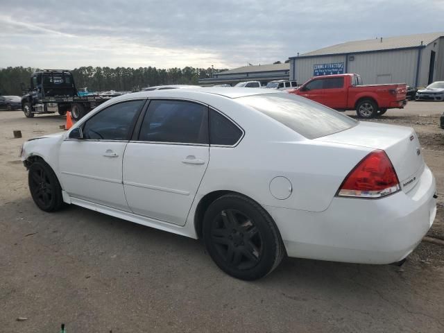
POLYGON ((271 216, 258 203, 239 194, 221 196, 208 207, 203 239, 216 265, 240 280, 264 277, 285 255, 271 216))

